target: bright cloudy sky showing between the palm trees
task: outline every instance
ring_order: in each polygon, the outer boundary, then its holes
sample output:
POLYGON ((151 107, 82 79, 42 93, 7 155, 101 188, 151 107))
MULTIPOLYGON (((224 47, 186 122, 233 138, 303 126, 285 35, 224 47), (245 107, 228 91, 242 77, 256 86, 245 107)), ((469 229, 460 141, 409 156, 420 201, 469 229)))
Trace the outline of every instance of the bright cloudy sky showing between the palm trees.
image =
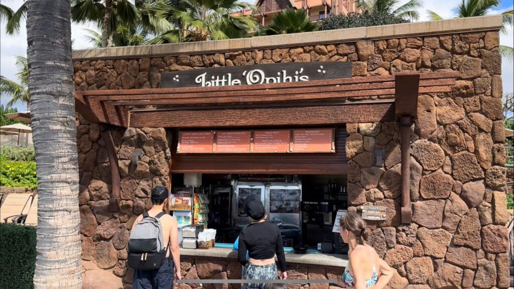
MULTIPOLYGON (((253 3, 253 0, 246 0, 247 2, 253 3)), ((407 3, 409 0, 400 0, 402 4, 407 3)), ((420 11, 420 21, 428 21, 428 13, 426 10, 432 10, 442 16, 444 19, 450 19, 455 16, 457 7, 462 0, 424 0, 424 9, 420 11)), ((14 11, 19 8, 23 3, 23 0, 2 0, 2 4, 9 6, 14 11)), ((501 5, 494 10, 490 11, 490 14, 500 14, 503 11, 512 9, 513 0, 503 0, 501 5)), ((71 39, 74 40, 74 49, 85 49, 90 48, 92 45, 88 42, 86 35, 87 32, 84 29, 97 29, 94 25, 86 24, 71 24, 71 39)), ((500 33, 500 44, 507 46, 514 46, 514 32, 511 27, 507 28, 507 34, 500 33)), ((16 80, 16 56, 27 56, 27 31, 25 29, 25 23, 21 24, 20 33, 14 37, 8 36, 5 33, 5 23, 0 26, 0 75, 16 80)), ((504 59, 502 61, 502 78, 503 78, 503 92, 511 93, 514 92, 513 79, 514 79, 514 64, 504 59)), ((6 104, 8 99, 0 99, 0 103, 6 104)), ((18 111, 26 111, 27 108, 24 104, 16 104, 15 107, 18 111)))

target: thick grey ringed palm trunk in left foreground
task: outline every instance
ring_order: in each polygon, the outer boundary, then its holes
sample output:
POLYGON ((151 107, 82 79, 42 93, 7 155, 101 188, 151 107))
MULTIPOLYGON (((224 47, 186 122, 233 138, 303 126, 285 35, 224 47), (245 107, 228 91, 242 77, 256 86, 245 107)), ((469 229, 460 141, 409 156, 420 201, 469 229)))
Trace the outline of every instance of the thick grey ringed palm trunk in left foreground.
POLYGON ((79 169, 69 0, 29 0, 30 116, 38 174, 34 287, 81 288, 79 169))

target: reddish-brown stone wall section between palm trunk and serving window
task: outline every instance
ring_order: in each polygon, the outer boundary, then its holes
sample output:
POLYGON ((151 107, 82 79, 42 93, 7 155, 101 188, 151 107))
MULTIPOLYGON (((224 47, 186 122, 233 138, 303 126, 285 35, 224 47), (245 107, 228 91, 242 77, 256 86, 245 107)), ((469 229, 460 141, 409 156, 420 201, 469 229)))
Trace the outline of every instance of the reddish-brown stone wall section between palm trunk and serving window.
MULTIPOLYGON (((120 278, 127 273, 126 244, 134 221, 143 209, 152 207, 152 188, 168 184, 171 153, 162 128, 112 130, 121 177, 120 211, 112 213, 107 209, 112 194, 111 164, 99 126, 80 116, 77 125, 84 288, 113 288, 116 280, 121 286, 120 278), (137 148, 143 154, 133 166, 132 153, 137 148), (108 282, 98 283, 99 274, 108 282)), ((126 288, 132 275, 129 271, 123 279, 126 288)))

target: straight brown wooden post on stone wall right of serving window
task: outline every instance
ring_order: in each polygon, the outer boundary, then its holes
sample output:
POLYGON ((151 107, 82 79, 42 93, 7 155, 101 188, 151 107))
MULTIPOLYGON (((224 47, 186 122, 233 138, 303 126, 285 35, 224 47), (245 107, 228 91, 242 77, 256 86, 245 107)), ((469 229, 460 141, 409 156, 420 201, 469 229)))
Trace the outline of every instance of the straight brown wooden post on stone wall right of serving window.
POLYGON ((411 117, 402 116, 401 126, 401 223, 412 222, 411 190, 410 190, 410 140, 411 140, 411 117))

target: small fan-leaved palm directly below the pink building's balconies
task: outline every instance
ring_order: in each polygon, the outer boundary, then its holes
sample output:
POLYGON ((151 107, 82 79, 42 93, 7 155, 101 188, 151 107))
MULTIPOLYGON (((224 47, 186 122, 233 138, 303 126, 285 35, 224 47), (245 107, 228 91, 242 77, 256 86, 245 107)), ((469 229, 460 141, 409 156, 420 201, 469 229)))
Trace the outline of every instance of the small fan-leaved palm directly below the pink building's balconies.
POLYGON ((315 31, 318 24, 310 22, 305 10, 285 9, 273 16, 271 24, 266 27, 266 34, 290 34, 315 31))

